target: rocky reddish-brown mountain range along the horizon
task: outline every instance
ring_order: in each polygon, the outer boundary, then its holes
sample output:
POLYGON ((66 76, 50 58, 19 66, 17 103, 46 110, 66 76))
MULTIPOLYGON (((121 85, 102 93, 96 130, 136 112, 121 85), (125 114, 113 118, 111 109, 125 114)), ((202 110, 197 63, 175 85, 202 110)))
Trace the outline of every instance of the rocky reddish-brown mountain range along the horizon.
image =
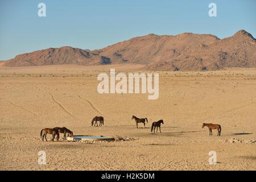
POLYGON ((24 53, 3 66, 143 64, 157 71, 204 71, 256 67, 256 40, 245 30, 219 39, 209 34, 149 34, 90 51, 72 47, 24 53))

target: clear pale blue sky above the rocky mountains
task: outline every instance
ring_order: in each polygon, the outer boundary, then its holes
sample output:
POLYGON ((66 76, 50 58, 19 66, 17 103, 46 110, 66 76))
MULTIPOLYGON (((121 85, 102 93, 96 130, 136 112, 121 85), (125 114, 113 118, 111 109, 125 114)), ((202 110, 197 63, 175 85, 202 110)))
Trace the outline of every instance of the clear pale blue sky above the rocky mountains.
POLYGON ((1 0, 0 60, 49 47, 99 49, 135 36, 183 32, 256 37, 254 0, 1 0), (38 4, 46 4, 46 17, 38 4), (217 17, 209 17, 209 3, 217 17))

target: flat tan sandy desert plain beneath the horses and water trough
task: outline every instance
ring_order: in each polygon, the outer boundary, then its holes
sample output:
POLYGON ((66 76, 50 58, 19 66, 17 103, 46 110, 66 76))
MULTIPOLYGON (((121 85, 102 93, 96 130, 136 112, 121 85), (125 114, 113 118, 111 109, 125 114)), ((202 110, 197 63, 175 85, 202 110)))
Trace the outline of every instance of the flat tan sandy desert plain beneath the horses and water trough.
MULTIPOLYGON (((111 67, 75 65, 0 67, 1 170, 255 170, 256 69, 160 72, 159 98, 147 94, 98 94, 97 75, 111 67), (96 115, 103 127, 92 127, 96 115), (147 117, 136 129, 131 116, 147 117), (153 121, 162 133, 151 134, 153 121), (209 136, 202 123, 219 123, 209 136), (45 127, 65 126, 75 135, 136 140, 42 142, 45 127), (38 152, 46 152, 46 165, 38 152), (217 152, 217 164, 208 162, 217 152)), ((112 66, 113 68, 113 66, 112 66)), ((139 69, 125 65, 119 71, 139 69)))

